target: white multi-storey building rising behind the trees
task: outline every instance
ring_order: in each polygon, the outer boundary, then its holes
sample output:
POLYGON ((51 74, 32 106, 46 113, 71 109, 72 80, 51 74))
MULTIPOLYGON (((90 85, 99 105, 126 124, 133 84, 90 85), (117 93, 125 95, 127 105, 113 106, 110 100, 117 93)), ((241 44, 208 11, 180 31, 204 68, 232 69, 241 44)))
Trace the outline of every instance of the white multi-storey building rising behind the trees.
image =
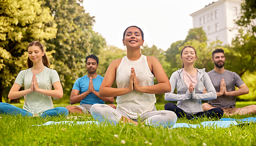
POLYGON ((241 3, 241 0, 219 0, 205 5, 203 9, 190 15, 193 18, 193 27, 202 27, 208 43, 220 40, 223 44, 231 44, 238 34, 234 20, 240 15, 241 3))

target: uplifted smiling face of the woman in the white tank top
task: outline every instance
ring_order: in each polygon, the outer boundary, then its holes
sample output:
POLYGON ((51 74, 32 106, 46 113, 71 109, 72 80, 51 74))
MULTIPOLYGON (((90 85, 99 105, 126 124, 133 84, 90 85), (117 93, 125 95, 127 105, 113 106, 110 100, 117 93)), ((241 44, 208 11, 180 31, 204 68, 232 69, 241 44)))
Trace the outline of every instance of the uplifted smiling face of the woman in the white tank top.
POLYGON ((125 34, 123 44, 126 47, 140 48, 144 43, 140 29, 137 27, 129 27, 125 34))

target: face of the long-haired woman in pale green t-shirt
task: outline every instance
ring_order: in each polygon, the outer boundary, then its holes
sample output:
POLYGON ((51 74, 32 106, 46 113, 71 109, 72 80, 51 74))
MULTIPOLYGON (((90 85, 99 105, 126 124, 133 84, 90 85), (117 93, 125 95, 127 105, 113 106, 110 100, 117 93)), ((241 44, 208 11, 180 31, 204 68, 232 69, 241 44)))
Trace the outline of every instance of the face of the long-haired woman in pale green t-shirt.
POLYGON ((33 63, 43 62, 42 57, 44 56, 44 52, 38 46, 30 46, 28 48, 29 60, 33 63))

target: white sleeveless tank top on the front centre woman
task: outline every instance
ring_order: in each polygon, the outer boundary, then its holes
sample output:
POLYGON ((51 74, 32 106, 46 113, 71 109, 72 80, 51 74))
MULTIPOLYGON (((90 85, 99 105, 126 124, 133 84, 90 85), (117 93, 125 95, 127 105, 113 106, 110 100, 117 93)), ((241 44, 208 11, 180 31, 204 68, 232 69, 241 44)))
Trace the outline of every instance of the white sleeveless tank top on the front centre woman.
MULTIPOLYGON (((149 69, 147 57, 141 55, 136 61, 123 57, 116 71, 118 88, 127 88, 130 83, 130 69, 134 68, 140 86, 154 85, 154 75, 149 69)), ((143 113, 152 111, 156 102, 155 94, 147 94, 133 90, 123 96, 118 96, 117 109, 124 111, 131 119, 137 119, 143 113)))

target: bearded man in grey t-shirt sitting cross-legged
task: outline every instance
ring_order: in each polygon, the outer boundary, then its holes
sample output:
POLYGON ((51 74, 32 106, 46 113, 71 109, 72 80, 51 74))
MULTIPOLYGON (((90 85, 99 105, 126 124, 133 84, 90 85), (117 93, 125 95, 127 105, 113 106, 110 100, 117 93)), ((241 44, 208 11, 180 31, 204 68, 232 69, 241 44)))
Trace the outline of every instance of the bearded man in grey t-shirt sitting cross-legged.
MULTIPOLYGON (((235 108, 235 96, 249 93, 249 88, 235 72, 224 69, 225 55, 223 49, 215 49, 212 52, 212 62, 215 68, 207 72, 215 86, 217 99, 208 100, 202 105, 204 111, 212 108, 222 108, 224 114, 232 116, 235 114, 255 114, 256 105, 249 105, 243 108, 235 108), (239 89, 235 90, 235 86, 239 89)), ((205 91, 207 92, 207 91, 205 91)))

